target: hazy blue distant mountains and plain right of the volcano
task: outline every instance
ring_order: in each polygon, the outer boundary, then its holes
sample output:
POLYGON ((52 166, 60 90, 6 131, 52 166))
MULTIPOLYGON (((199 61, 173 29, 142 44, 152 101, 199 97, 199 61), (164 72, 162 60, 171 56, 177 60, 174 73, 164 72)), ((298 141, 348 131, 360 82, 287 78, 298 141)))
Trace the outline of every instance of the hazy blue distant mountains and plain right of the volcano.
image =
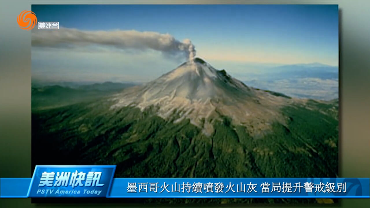
POLYGON ((265 67, 259 73, 237 74, 246 85, 279 91, 297 98, 333 100, 339 97, 338 67, 320 63, 265 67))

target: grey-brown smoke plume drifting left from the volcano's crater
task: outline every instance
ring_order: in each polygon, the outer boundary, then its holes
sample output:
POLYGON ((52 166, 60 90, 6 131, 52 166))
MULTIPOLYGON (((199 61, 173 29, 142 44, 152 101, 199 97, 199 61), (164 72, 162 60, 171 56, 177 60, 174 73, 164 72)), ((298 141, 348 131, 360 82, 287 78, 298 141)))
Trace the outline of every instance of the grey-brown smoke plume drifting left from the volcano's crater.
POLYGON ((167 56, 182 56, 190 60, 195 56, 195 47, 190 40, 179 41, 168 33, 151 31, 85 31, 63 27, 59 30, 33 30, 31 44, 33 47, 52 48, 100 45, 120 49, 151 49, 167 56))

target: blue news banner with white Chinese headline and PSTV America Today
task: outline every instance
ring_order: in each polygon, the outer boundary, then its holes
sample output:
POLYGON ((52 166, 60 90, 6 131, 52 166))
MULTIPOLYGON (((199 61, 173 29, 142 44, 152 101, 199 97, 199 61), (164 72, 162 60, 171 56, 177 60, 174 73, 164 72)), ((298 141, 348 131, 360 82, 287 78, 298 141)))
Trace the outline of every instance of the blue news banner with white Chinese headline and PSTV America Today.
POLYGON ((369 178, 114 178, 115 165, 37 165, 1 198, 370 198, 369 178))

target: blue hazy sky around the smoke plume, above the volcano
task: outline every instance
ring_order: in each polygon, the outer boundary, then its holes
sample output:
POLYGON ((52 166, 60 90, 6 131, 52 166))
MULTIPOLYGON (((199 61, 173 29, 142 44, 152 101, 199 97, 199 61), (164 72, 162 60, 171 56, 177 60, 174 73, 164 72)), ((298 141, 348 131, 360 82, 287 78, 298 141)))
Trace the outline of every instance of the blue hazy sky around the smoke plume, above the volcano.
MULTIPOLYGON (((250 67, 256 63, 338 66, 337 5, 33 5, 32 11, 38 21, 59 21, 60 27, 77 31, 153 31, 179 41, 188 38, 197 56, 231 74, 243 70, 236 65, 256 70, 250 67)), ((185 60, 144 49, 34 46, 32 74, 54 80, 148 81, 185 60)))

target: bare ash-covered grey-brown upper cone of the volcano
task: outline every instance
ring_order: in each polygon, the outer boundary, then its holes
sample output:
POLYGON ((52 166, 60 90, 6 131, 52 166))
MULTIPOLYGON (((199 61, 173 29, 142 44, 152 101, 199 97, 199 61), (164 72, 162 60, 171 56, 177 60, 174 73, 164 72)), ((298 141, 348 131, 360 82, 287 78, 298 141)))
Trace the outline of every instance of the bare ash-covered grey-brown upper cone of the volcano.
POLYGON ((113 99, 118 101, 112 108, 135 106, 144 110, 155 106, 162 118, 174 118, 174 122, 189 118, 207 135, 213 132, 212 122, 221 115, 245 125, 251 134, 259 134, 274 121, 285 123, 279 108, 295 100, 248 87, 200 58, 154 81, 128 88, 113 99))

